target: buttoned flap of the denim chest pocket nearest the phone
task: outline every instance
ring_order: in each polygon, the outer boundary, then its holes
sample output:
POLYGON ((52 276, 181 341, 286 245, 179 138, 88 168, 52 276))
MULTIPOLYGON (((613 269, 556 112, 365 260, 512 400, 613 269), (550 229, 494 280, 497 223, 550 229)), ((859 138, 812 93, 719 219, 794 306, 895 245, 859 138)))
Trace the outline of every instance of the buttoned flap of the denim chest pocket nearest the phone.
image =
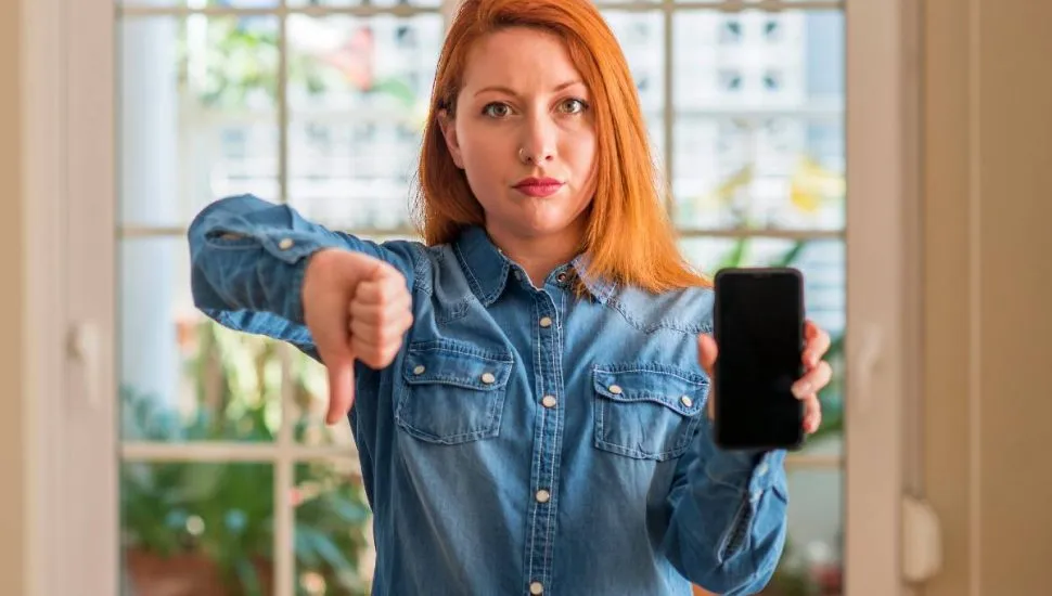
POLYGON ((596 366, 593 379, 595 392, 608 400, 649 401, 683 416, 697 414, 707 398, 707 377, 667 364, 596 366))

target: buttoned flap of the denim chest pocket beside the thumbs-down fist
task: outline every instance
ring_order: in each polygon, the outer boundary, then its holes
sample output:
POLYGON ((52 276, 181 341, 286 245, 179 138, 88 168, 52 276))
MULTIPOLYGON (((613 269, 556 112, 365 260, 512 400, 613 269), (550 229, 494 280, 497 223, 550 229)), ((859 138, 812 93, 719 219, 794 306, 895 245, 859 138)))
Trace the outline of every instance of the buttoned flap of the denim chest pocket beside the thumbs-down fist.
POLYGON ((409 385, 442 384, 493 391, 503 388, 514 360, 508 352, 484 350, 449 339, 411 344, 402 376, 409 385))

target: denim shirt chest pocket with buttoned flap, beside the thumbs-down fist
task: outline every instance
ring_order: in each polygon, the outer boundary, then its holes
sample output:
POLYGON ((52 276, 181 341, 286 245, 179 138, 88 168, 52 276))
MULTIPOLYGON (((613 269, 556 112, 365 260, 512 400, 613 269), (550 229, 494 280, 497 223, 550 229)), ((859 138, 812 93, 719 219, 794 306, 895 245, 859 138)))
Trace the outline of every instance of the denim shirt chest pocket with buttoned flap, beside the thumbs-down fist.
POLYGON ((402 366, 398 426, 418 439, 457 444, 497 437, 513 359, 451 339, 414 342, 402 366))

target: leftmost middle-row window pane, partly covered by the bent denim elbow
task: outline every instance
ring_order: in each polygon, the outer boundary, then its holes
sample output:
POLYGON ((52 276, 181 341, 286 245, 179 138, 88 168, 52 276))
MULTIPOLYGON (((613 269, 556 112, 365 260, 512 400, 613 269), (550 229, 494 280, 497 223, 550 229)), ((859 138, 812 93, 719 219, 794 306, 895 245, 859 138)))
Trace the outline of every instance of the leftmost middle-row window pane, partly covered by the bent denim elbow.
POLYGON ((120 242, 123 439, 271 441, 281 420, 281 348, 193 307, 188 252, 182 237, 120 242))

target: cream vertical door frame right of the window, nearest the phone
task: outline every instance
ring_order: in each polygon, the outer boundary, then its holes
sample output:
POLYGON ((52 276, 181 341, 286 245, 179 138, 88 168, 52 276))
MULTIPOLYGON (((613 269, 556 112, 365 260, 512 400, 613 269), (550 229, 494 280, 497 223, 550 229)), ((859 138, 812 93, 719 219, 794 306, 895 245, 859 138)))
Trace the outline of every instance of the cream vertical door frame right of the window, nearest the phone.
POLYGON ((919 11, 845 2, 847 387, 845 594, 908 594, 901 497, 918 485, 919 11))

